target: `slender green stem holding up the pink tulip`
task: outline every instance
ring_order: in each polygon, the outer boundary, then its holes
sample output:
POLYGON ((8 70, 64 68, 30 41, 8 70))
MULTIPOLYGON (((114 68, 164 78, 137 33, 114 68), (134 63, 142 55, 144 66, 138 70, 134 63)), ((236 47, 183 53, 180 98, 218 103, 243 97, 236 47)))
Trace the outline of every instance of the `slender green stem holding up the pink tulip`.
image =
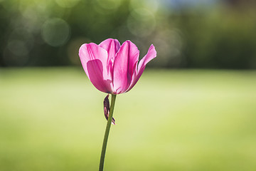
POLYGON ((102 171, 104 167, 105 153, 107 148, 107 139, 108 139, 108 135, 110 134, 110 126, 113 118, 114 102, 116 97, 117 95, 114 95, 114 94, 112 94, 111 96, 110 115, 109 115, 109 118, 107 119, 107 126, 105 130, 103 144, 102 144, 102 153, 100 155, 100 168, 99 168, 100 171, 102 171))

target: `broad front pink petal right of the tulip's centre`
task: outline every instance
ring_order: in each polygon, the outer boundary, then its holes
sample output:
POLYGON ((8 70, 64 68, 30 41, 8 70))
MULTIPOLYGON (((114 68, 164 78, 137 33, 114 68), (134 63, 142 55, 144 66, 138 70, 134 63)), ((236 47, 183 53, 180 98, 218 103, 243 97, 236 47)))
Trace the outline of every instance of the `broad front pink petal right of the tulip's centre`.
POLYGON ((125 41, 117 52, 113 68, 114 94, 124 93, 132 82, 134 64, 139 60, 139 50, 131 41, 125 41))

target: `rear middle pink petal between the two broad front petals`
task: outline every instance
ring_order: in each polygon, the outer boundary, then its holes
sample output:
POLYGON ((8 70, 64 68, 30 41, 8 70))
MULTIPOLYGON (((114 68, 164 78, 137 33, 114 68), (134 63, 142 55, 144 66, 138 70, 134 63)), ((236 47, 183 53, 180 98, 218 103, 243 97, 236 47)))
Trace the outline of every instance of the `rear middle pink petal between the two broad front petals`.
POLYGON ((107 51, 107 72, 112 75, 114 58, 117 51, 119 51, 120 43, 117 39, 108 38, 107 40, 102 41, 99 46, 107 51))

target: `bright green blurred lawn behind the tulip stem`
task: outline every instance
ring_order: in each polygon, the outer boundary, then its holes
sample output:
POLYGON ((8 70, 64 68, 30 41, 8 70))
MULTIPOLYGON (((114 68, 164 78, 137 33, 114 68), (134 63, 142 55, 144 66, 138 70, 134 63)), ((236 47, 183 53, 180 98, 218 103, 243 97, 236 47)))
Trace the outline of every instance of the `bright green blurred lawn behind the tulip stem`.
MULTIPOLYGON (((97 170, 105 95, 81 68, 1 68, 0 170, 97 170)), ((115 107, 105 170, 256 168, 256 71, 148 69, 115 107)))

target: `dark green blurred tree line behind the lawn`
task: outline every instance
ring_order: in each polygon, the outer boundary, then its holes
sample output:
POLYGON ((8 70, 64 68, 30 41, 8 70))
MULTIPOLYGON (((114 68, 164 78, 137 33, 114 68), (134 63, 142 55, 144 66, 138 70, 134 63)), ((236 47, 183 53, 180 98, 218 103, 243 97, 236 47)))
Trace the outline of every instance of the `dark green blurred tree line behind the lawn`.
POLYGON ((80 65, 82 43, 150 44, 158 68, 256 68, 253 1, 0 0, 0 66, 80 65))

